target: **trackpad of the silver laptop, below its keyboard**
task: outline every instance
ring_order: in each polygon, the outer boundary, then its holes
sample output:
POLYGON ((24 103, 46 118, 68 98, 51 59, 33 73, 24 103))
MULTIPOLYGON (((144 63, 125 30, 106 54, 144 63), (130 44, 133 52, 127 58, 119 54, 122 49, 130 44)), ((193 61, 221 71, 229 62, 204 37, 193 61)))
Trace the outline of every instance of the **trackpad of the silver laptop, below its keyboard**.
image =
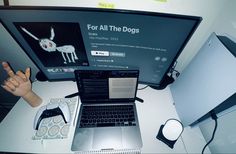
POLYGON ((121 128, 98 128, 94 130, 93 149, 121 149, 121 128))

